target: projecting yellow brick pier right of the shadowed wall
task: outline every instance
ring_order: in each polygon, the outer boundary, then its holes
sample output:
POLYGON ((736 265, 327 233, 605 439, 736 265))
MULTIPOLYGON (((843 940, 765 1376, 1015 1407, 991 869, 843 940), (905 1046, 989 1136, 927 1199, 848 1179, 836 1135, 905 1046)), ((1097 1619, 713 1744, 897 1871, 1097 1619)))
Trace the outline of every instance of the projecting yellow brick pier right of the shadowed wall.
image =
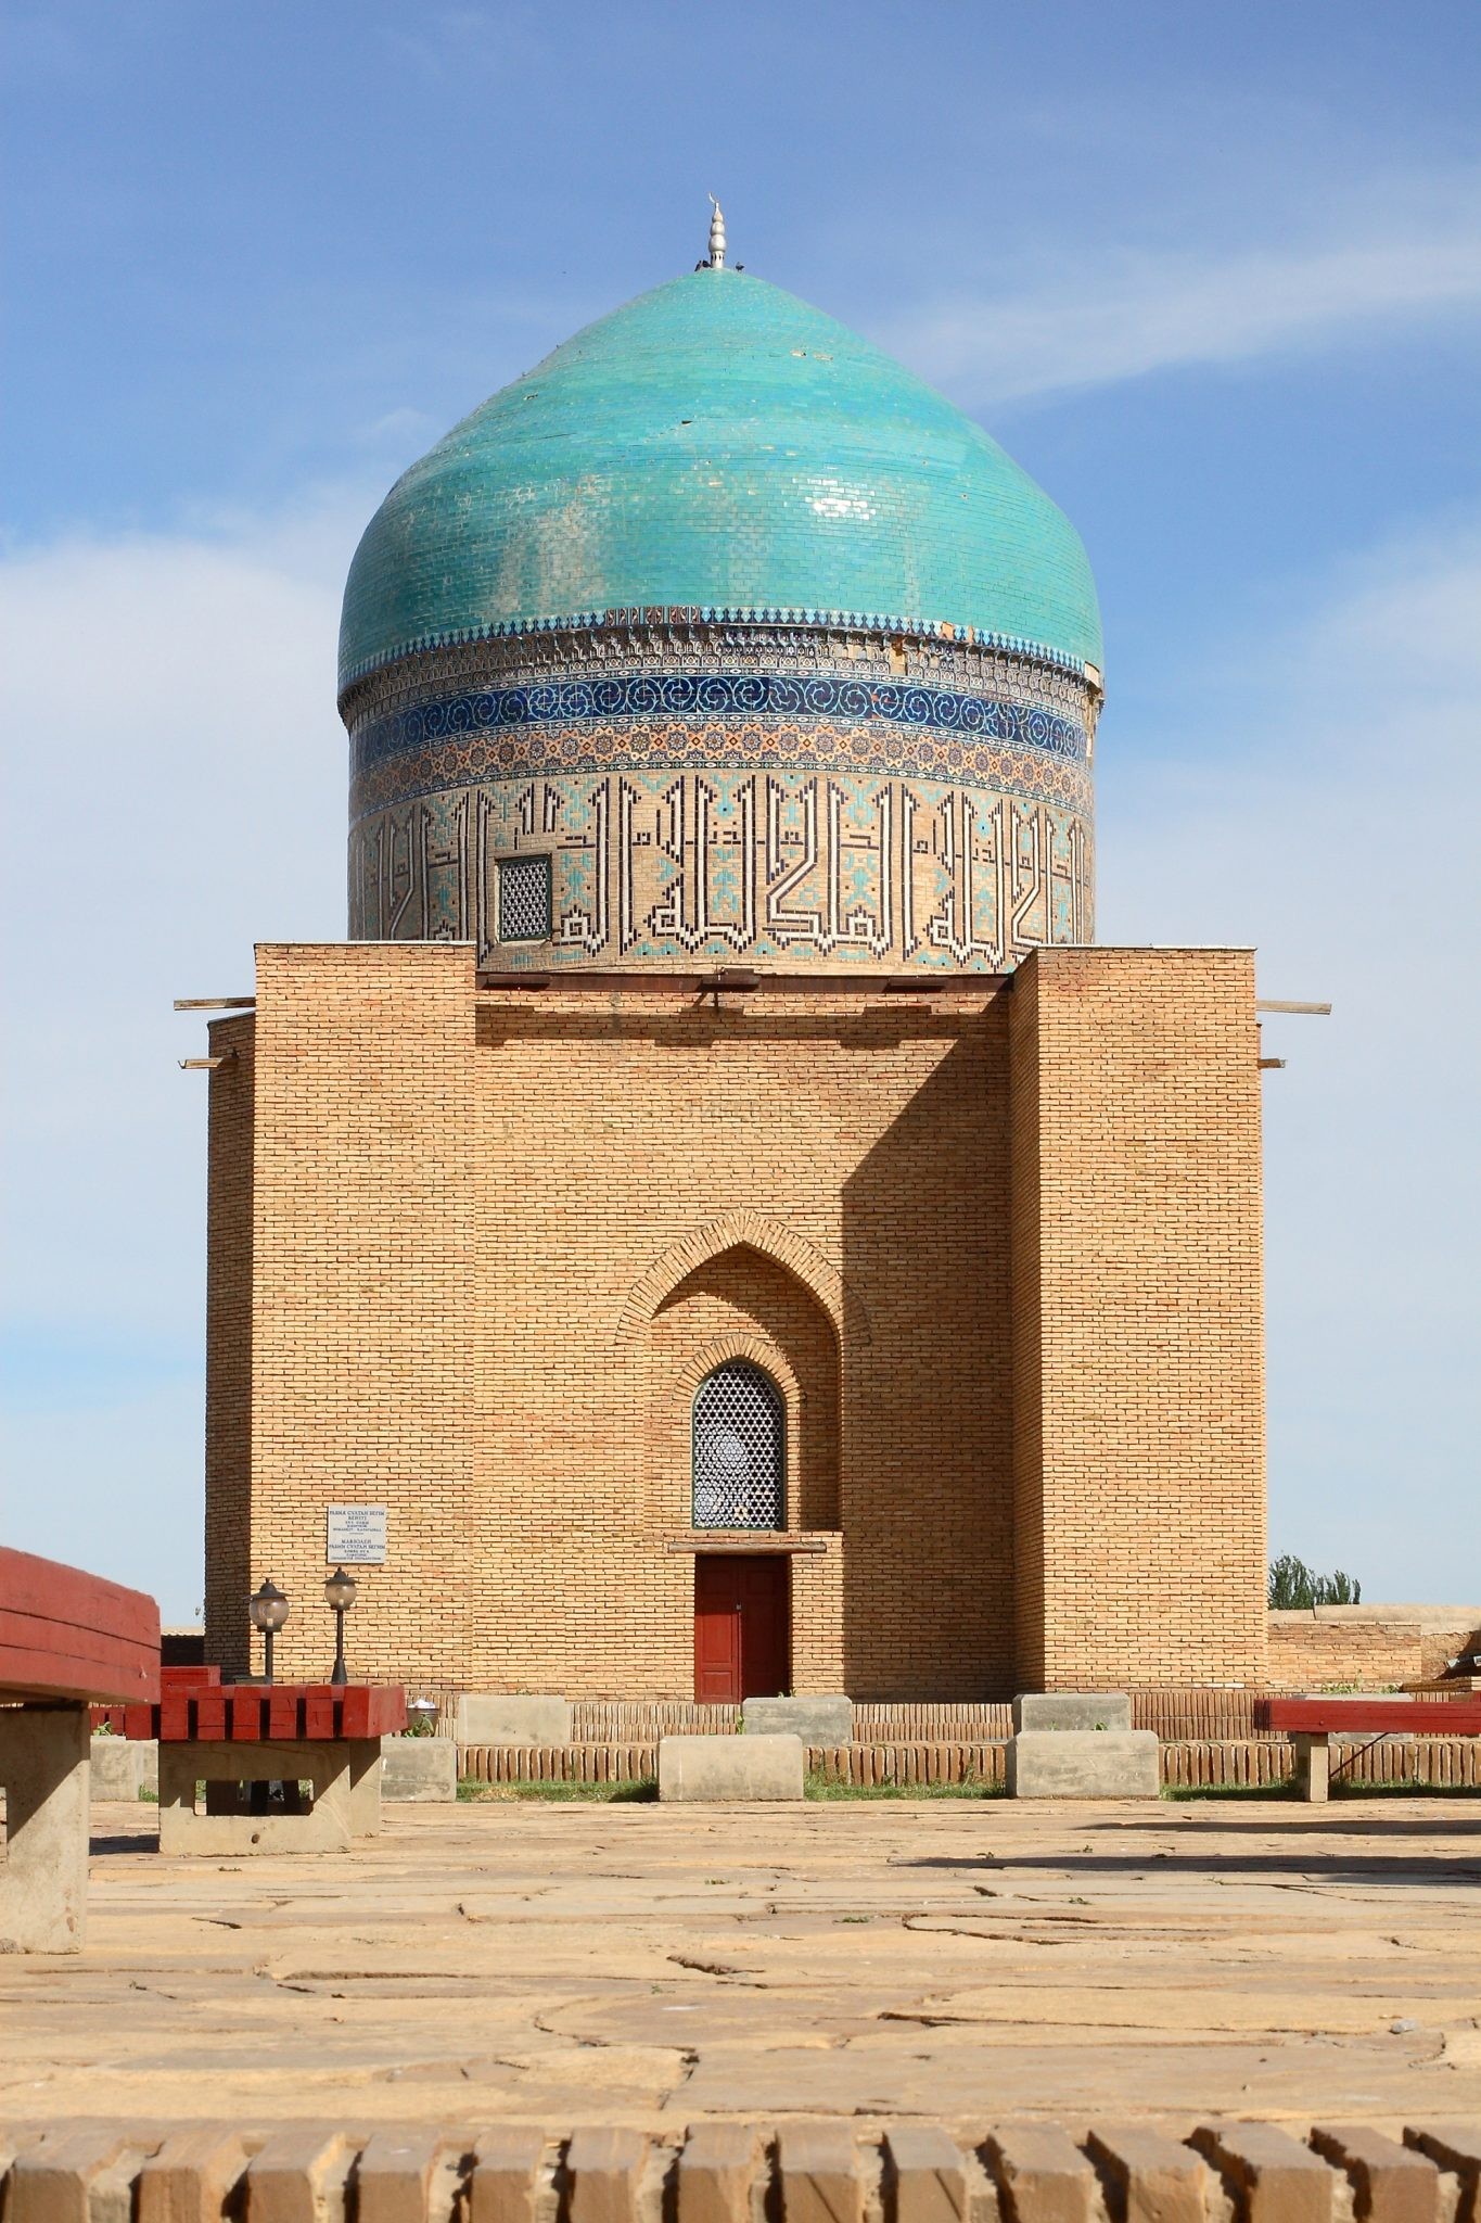
POLYGON ((1037 949, 1010 1009, 1024 1665, 1259 1683, 1252 956, 1037 949))

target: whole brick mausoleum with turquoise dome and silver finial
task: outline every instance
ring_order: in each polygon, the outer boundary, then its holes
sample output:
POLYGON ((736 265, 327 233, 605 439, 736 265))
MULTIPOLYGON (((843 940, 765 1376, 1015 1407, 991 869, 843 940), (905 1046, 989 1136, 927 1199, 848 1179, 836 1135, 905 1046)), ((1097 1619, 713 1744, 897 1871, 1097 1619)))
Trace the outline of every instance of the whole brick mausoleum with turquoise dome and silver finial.
POLYGON ((1095 945, 1099 707, 1066 516, 719 220, 397 480, 351 938, 211 1029, 213 1658, 371 1509, 362 1674, 1263 1681, 1252 956, 1095 945))

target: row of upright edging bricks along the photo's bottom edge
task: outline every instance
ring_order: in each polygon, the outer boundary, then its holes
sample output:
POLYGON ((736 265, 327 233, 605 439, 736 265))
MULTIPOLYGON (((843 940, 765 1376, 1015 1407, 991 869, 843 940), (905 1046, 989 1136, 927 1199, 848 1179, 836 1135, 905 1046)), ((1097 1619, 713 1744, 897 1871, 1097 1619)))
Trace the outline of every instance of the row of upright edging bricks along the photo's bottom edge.
POLYGON ((1055 2123, 704 2121, 642 2130, 62 2119, 0 2125, 11 2223, 1439 2223, 1474 2216, 1481 2125, 1206 2123, 1188 2136, 1055 2123))

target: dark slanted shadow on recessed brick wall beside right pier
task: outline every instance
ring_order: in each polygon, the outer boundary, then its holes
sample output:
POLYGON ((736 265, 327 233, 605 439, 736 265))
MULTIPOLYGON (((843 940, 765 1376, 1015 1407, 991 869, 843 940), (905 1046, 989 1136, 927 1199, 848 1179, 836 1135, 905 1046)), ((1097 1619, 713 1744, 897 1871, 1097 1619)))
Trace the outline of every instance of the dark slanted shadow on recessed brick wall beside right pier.
MULTIPOLYGON (((884 1054, 884 1045, 879 1045, 884 1054)), ((1015 1687, 1008 998, 901 1043, 906 1109, 844 1183, 844 1687, 1015 1687)))

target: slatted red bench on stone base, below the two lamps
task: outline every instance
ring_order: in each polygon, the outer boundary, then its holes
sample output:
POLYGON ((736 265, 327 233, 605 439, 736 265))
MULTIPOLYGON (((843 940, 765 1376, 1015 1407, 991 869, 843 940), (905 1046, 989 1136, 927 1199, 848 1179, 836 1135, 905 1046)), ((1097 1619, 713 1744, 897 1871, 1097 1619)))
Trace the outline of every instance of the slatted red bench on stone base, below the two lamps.
POLYGON ((218 1667, 167 1667, 158 1705, 122 1712, 124 1736, 160 1743, 160 1852, 229 1856, 349 1852, 373 1836, 380 1741, 404 1727, 402 1687, 222 1683, 218 1667))

